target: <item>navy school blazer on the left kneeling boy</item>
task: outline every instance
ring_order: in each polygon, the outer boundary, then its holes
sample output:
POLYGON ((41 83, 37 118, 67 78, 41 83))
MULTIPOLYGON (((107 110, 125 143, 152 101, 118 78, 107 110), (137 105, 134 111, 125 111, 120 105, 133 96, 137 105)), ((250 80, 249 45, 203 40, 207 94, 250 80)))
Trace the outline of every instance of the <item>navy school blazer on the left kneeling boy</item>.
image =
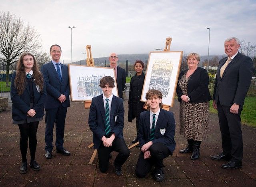
MULTIPOLYGON (((94 149, 100 147, 102 137, 105 135, 105 108, 103 103, 103 94, 93 97, 90 106, 89 127, 92 131, 92 139, 94 149)), ((124 104, 123 99, 113 95, 110 109, 110 128, 111 133, 115 133, 115 137, 124 139, 124 104)))

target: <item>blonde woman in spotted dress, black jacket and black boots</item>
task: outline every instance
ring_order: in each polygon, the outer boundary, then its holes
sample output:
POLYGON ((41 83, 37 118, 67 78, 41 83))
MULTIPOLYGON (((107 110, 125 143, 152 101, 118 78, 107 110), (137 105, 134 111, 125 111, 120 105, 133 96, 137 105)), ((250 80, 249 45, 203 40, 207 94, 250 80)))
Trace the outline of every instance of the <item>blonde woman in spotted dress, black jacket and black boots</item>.
POLYGON ((176 92, 180 102, 180 134, 187 138, 188 146, 180 153, 191 153, 190 159, 198 159, 201 141, 207 138, 209 123, 208 89, 209 76, 205 69, 198 67, 200 56, 187 56, 188 69, 180 72, 176 92))

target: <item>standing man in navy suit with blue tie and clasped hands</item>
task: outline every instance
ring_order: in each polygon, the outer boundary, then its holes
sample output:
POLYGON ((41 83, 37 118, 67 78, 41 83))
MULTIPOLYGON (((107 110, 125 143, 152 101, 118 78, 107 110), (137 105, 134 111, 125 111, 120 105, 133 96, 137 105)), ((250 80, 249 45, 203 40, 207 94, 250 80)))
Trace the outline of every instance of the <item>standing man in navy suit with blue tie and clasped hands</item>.
POLYGON ((70 155, 70 152, 64 149, 64 126, 67 109, 69 107, 69 80, 68 67, 60 63, 61 48, 58 45, 52 45, 50 48, 52 61, 44 64, 41 72, 44 75, 46 85, 46 101, 44 108, 45 117, 45 158, 52 158, 52 131, 54 123, 56 125, 56 152, 62 155, 70 155))

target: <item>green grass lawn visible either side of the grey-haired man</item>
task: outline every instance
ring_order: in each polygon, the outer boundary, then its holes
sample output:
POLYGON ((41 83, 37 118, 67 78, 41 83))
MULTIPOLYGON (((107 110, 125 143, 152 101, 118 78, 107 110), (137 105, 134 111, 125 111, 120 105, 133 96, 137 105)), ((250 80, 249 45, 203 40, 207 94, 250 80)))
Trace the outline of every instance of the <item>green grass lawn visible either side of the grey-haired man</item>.
MULTIPOLYGON (((241 113, 242 123, 246 123, 251 127, 256 127, 256 97, 245 97, 244 106, 241 113)), ((210 113, 218 113, 212 107, 212 100, 210 101, 210 113)))

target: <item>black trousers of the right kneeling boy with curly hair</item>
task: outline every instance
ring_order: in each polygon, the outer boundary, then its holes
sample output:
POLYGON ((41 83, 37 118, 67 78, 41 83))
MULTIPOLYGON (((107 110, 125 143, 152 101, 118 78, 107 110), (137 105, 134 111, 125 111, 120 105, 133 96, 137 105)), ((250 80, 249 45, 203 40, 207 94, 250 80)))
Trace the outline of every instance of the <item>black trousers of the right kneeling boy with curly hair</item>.
POLYGON ((168 147, 163 143, 153 143, 149 151, 151 154, 149 159, 144 159, 144 153, 140 152, 135 169, 136 176, 139 178, 145 177, 153 165, 158 168, 164 167, 163 159, 172 155, 168 147))

